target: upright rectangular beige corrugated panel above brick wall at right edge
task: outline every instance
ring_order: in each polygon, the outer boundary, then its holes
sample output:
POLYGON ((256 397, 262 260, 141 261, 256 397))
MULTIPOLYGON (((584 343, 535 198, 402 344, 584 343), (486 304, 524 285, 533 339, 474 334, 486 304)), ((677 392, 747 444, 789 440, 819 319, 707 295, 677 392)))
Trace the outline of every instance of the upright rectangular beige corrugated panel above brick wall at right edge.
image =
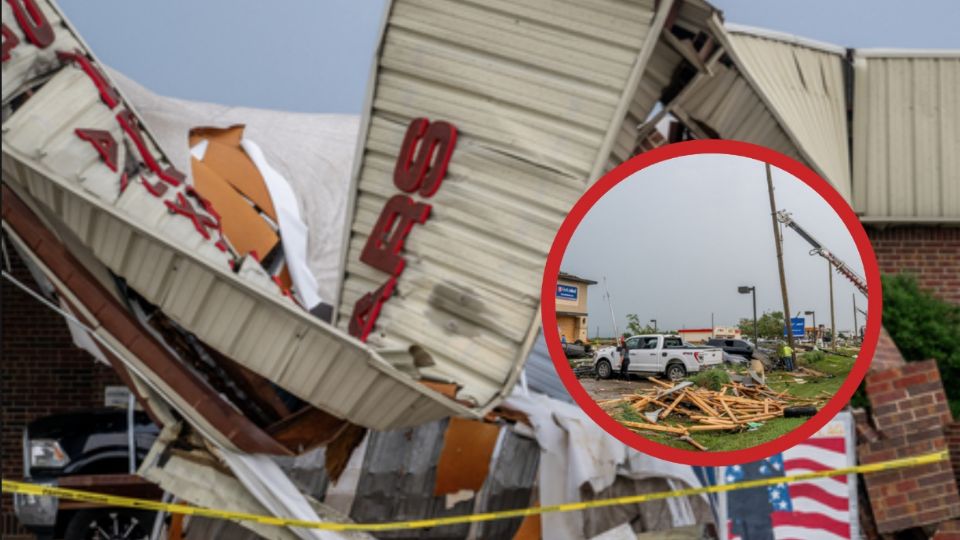
POLYGON ((960 222, 960 51, 857 51, 854 209, 960 222))

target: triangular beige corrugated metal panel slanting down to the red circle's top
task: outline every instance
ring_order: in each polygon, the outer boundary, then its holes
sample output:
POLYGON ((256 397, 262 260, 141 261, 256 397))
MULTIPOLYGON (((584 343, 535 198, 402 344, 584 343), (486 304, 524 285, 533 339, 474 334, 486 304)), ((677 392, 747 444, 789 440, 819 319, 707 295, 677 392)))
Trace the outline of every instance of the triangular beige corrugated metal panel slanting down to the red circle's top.
POLYGON ((737 65, 761 92, 800 153, 849 200, 843 50, 742 31, 730 33, 728 41, 737 65))

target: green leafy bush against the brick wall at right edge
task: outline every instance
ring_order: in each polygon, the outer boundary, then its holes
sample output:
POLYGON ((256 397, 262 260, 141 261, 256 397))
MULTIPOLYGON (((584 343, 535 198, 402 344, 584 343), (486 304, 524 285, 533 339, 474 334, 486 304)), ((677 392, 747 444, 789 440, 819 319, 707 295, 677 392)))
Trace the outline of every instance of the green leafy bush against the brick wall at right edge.
POLYGON ((914 276, 883 276, 883 326, 908 362, 933 358, 954 415, 960 413, 960 306, 920 288, 914 276))

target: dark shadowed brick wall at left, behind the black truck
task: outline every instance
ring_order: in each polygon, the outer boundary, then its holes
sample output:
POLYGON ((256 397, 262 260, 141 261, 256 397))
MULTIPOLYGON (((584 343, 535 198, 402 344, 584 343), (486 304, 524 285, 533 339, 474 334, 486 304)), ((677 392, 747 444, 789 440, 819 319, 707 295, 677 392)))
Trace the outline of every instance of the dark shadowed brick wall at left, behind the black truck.
MULTIPOLYGON (((14 275, 34 286, 16 251, 7 244, 14 275)), ((74 347, 63 318, 0 280, 0 460, 3 477, 23 477, 23 427, 31 420, 83 407, 103 405, 107 385, 122 384, 113 370, 74 347)), ((0 535, 10 538, 23 531, 13 516, 11 500, 2 499, 0 535)))

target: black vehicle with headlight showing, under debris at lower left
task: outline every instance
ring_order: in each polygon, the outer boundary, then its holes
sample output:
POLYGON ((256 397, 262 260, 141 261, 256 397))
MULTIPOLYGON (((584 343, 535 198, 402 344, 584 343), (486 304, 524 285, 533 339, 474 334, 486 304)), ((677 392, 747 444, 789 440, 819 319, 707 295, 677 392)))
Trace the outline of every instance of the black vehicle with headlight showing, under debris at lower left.
MULTIPOLYGON (((133 420, 134 463, 139 464, 159 429, 143 412, 136 412, 133 420)), ((123 409, 80 410, 34 420, 23 433, 24 480, 69 486, 74 485, 70 480, 83 477, 96 485, 98 479, 129 475, 129 427, 123 409)), ((38 538, 149 538, 156 516, 130 508, 69 506, 67 501, 58 502, 52 497, 14 498, 17 518, 38 538)))

